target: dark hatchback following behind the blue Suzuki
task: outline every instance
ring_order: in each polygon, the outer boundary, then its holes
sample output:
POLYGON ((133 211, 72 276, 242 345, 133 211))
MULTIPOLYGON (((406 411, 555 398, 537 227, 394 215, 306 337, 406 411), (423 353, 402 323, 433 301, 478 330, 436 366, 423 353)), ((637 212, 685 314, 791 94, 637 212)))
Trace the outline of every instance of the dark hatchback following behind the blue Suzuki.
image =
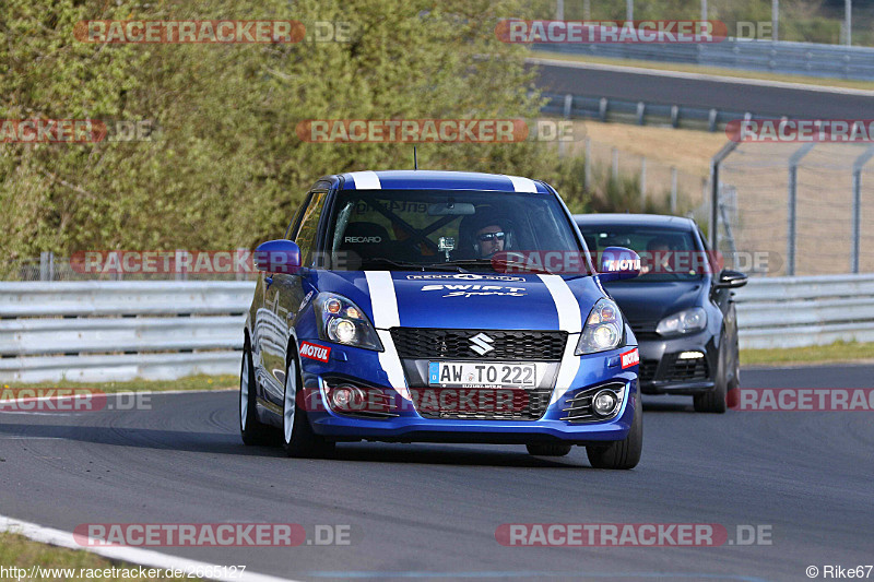
POLYGON ((740 387, 731 289, 746 275, 723 270, 690 218, 654 214, 574 216, 591 252, 622 246, 641 275, 605 283, 639 342, 645 394, 692 395, 697 412, 724 413, 740 387))

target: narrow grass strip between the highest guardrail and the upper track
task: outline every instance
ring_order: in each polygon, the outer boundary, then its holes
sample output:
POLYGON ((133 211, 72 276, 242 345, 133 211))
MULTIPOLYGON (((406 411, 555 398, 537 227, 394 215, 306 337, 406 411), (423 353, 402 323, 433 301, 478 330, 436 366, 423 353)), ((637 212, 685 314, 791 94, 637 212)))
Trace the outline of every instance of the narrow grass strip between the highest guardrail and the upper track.
POLYGON ((740 79, 757 79, 761 81, 780 81, 783 83, 801 83, 805 85, 861 88, 874 91, 874 83, 870 81, 853 81, 847 79, 832 79, 823 76, 802 76, 791 74, 771 74, 742 69, 724 69, 721 67, 699 67, 680 62, 653 62, 634 59, 609 59, 605 57, 590 57, 588 55, 568 55, 566 52, 548 52, 543 50, 531 51, 531 58, 554 59, 572 62, 592 62, 598 64, 615 64, 618 67, 639 67, 658 71, 678 71, 683 73, 711 74, 717 76, 734 76, 740 79))

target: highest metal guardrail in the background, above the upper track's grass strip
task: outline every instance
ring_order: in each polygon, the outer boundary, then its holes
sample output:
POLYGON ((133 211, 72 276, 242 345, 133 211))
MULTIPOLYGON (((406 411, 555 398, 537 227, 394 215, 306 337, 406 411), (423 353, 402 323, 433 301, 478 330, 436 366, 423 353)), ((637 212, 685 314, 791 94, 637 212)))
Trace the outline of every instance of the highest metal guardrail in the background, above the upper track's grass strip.
POLYGON ((871 47, 727 38, 710 44, 538 44, 533 49, 781 74, 874 80, 874 48, 871 47))

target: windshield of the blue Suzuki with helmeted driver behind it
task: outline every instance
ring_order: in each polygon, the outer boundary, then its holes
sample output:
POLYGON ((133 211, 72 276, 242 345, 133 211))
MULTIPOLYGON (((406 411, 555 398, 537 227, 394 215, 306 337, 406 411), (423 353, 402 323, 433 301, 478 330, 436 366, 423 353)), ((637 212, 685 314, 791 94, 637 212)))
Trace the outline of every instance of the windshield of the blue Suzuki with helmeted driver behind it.
POLYGON ((567 272, 545 253, 574 256, 574 274, 590 274, 588 254, 551 194, 473 190, 346 190, 329 216, 338 270, 567 272))

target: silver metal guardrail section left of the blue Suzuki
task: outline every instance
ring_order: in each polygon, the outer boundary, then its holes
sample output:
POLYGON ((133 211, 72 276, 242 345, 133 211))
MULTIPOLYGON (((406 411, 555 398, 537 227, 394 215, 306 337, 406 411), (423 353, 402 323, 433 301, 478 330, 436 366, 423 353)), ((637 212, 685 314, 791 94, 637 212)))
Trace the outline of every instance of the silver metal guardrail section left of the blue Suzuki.
POLYGON ((252 282, 0 283, 0 381, 239 371, 252 282))

